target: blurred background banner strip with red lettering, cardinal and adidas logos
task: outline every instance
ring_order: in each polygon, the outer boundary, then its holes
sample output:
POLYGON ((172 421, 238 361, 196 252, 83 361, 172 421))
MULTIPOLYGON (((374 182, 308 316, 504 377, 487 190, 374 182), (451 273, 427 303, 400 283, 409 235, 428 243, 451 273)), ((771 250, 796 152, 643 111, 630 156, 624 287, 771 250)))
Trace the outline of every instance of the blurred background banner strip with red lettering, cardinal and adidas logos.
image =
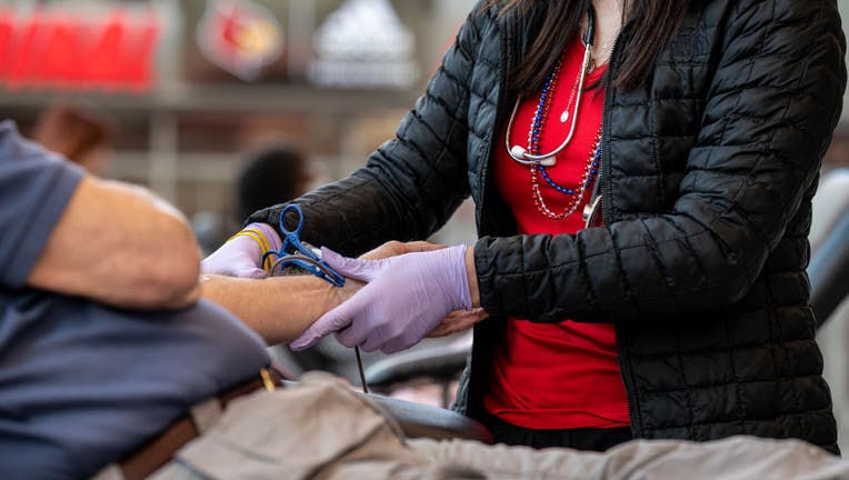
POLYGON ((0 91, 410 89, 421 59, 398 10, 408 20, 430 11, 390 0, 1 1, 0 91))

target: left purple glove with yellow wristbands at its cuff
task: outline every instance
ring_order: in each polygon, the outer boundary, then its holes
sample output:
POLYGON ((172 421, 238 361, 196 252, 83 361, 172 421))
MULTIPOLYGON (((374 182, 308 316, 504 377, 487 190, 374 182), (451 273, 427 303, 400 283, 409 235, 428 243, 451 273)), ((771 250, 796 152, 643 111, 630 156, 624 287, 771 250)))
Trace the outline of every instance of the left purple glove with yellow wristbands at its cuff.
POLYGON ((251 223, 200 262, 200 271, 227 277, 266 278, 262 256, 280 250, 280 236, 267 223, 251 223))

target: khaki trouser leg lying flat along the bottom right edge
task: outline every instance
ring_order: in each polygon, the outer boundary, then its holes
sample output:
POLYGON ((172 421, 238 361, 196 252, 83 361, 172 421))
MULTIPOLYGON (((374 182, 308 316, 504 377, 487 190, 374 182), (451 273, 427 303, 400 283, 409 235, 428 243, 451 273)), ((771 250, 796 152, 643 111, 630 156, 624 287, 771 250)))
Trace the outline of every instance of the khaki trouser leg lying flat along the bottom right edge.
POLYGON ((799 440, 732 437, 705 443, 635 440, 603 453, 533 450, 453 440, 410 440, 437 464, 472 468, 488 479, 849 479, 849 462, 799 440))

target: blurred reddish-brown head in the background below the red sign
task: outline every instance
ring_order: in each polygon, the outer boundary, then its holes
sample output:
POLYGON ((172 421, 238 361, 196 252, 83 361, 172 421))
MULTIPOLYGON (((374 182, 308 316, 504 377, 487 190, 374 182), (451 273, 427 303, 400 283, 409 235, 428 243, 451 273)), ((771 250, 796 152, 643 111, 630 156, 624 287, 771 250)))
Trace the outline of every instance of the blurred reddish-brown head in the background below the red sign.
POLYGON ((32 139, 91 172, 99 172, 110 154, 112 123, 82 107, 58 104, 44 109, 32 139))

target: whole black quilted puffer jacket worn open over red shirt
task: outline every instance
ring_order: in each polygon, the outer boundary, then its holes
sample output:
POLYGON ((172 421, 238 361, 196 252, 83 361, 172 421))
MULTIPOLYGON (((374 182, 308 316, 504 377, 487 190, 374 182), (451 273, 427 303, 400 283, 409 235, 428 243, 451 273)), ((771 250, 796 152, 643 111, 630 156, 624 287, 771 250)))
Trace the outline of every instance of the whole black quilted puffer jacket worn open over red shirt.
MULTIPOLYGON (((402 121, 309 193, 303 237, 348 254, 425 239, 471 194, 481 303, 458 407, 477 417, 503 316, 616 324, 636 437, 796 437, 837 452, 805 273, 811 197, 846 83, 833 0, 693 2, 642 88, 607 86, 603 228, 515 236, 489 162, 505 72, 545 1, 472 14, 402 121)), ((611 68, 639 46, 627 24, 611 68)), ((251 221, 277 224, 279 207, 251 221)))

